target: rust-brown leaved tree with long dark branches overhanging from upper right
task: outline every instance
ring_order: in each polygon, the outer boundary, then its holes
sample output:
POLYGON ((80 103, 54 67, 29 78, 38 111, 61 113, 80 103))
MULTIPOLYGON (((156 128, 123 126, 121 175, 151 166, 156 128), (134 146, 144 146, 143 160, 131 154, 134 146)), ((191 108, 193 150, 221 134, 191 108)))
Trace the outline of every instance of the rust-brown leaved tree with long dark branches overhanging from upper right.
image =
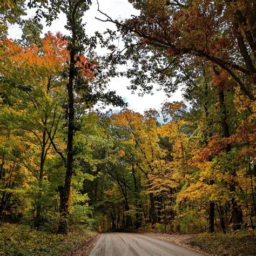
POLYGON ((110 59, 115 63, 125 59, 133 62, 133 68, 126 72, 133 82, 131 89, 141 87, 150 92, 157 82, 171 93, 179 84, 173 76, 205 60, 235 81, 231 89, 239 86, 250 100, 255 100, 252 1, 130 2, 140 11, 138 16, 119 22, 99 10, 106 19, 98 19, 116 24, 124 39, 124 50, 110 59))

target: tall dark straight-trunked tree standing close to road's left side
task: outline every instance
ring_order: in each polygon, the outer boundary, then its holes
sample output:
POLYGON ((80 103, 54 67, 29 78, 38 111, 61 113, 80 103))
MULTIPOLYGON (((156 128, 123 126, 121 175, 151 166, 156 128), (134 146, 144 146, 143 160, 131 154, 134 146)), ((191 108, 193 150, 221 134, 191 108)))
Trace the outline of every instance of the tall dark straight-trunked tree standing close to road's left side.
MULTIPOLYGON (((66 84, 68 90, 68 140, 67 140, 67 157, 66 157, 66 176, 64 186, 59 186, 60 193, 60 219, 59 233, 68 233, 68 217, 69 217, 69 198, 71 188, 71 178, 73 174, 73 138, 76 130, 75 112, 76 102, 91 107, 98 100, 113 103, 116 105, 125 105, 122 98, 115 95, 115 92, 100 93, 95 92, 89 82, 96 75, 96 59, 88 59, 84 56, 87 50, 88 55, 92 55, 93 48, 96 47, 95 37, 88 38, 85 35, 82 17, 84 12, 89 10, 90 0, 72 0, 72 1, 30 1, 29 7, 37 8, 37 19, 46 18, 48 24, 57 18, 57 14, 62 11, 66 15, 66 28, 70 31, 71 36, 68 37, 69 65, 67 76, 69 82, 66 84), (46 8, 46 11, 43 9, 46 8), (87 49, 86 49, 87 48, 87 49), (86 49, 86 50, 85 50, 86 49), (77 96, 77 97, 76 97, 77 96), (76 98, 76 100, 75 100, 76 98)), ((98 72, 99 85, 102 85, 102 74, 98 72)), ((100 88, 102 89, 102 88, 100 88)))

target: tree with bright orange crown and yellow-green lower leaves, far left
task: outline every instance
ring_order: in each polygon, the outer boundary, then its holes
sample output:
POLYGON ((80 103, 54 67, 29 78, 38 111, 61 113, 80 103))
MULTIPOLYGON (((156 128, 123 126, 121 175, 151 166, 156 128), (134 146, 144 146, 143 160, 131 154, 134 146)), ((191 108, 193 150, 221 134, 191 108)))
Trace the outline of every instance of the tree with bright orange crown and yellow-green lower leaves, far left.
POLYGON ((9 118, 13 123, 6 129, 11 127, 16 130, 16 136, 23 137, 25 143, 29 142, 26 151, 31 156, 23 159, 22 163, 30 166, 38 180, 37 227, 42 222, 41 198, 47 173, 44 165, 51 142, 59 132, 62 105, 65 103, 62 69, 68 60, 66 46, 62 35, 48 33, 39 46, 20 46, 5 39, 1 49, 1 91, 8 96, 5 100, 8 99, 9 107, 5 106, 5 111, 10 111, 9 118))

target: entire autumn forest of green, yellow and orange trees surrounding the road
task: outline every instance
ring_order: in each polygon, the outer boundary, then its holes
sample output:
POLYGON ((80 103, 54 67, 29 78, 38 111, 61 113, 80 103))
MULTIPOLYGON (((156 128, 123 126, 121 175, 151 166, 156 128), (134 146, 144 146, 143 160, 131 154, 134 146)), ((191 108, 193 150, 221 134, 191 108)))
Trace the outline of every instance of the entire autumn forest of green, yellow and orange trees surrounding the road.
POLYGON ((125 19, 92 2, 0 3, 0 254, 116 230, 255 241, 255 2, 123 0, 125 19), (110 28, 88 36, 92 4, 110 28), (60 14, 68 33, 43 33, 60 14), (183 100, 139 113, 114 77, 183 100))

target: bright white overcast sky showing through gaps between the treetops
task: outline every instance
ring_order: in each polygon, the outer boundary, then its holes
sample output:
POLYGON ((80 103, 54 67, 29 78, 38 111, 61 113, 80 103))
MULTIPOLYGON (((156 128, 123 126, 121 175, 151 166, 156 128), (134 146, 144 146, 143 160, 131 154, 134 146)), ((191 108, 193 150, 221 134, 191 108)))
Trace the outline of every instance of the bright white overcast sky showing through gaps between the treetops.
MULTIPOLYGON (((100 22, 95 17, 100 17, 99 12, 97 11, 97 3, 95 0, 92 1, 93 4, 89 11, 85 13, 84 21, 86 24, 86 33, 88 35, 93 35, 95 31, 103 32, 106 28, 114 29, 114 25, 111 23, 100 22)), ((105 12, 107 15, 111 16, 113 19, 116 18, 129 18, 131 15, 137 13, 137 10, 133 9, 132 5, 128 0, 99 0, 100 10, 105 12)), ((33 16, 34 12, 28 10, 28 16, 33 16)), ((104 17, 103 17, 104 19, 104 17)), ((43 22, 44 23, 44 22, 43 22)), ((43 33, 51 31, 53 33, 60 31, 65 34, 66 30, 64 25, 66 24, 66 18, 64 15, 59 15, 56 21, 53 21, 52 25, 46 26, 44 23, 43 33)), ((12 39, 17 39, 21 37, 21 29, 18 26, 12 26, 9 29, 9 37, 12 39)), ((102 53, 102 52, 100 52, 102 53)), ((157 109, 160 110, 161 104, 164 101, 172 102, 174 100, 182 100, 181 92, 177 91, 173 94, 171 98, 165 96, 163 91, 153 91, 154 95, 145 95, 139 97, 137 93, 132 94, 130 90, 127 89, 130 82, 127 78, 113 78, 109 84, 109 89, 116 91, 117 95, 123 97, 125 102, 129 103, 129 109, 143 113, 148 109, 157 109)), ((118 109, 112 108, 114 112, 118 109)))

